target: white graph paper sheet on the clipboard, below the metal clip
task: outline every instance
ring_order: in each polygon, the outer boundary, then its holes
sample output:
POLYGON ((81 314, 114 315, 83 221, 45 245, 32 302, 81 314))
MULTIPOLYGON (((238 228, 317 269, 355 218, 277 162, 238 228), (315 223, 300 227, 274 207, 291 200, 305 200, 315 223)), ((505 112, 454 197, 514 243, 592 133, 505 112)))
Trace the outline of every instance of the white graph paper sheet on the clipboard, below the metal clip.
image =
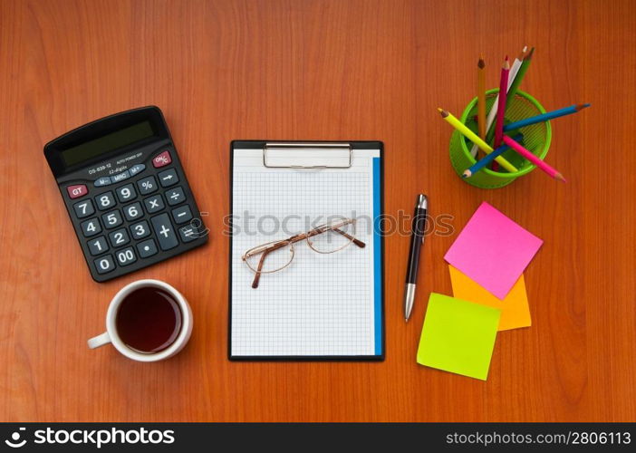
MULTIPOLYGON (((379 196, 379 194, 375 194, 379 196)), ((351 169, 265 169, 235 150, 233 175, 231 355, 371 356, 375 354, 372 158, 351 169), (366 246, 333 254, 294 244, 288 267, 261 276, 241 256, 325 222, 356 217, 366 246)))

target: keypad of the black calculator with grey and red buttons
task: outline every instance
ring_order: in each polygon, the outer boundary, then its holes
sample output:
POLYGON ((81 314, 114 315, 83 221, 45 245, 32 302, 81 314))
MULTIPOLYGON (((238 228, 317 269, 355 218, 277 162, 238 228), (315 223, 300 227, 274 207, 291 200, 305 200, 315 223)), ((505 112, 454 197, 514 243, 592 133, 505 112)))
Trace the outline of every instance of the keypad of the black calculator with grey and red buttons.
POLYGON ((190 224, 198 209, 173 157, 161 149, 152 165, 97 178, 90 196, 85 185, 65 186, 69 198, 79 198, 68 206, 96 280, 144 267, 145 260, 157 263, 180 253, 179 245, 192 248, 189 243, 200 237, 205 226, 190 224))

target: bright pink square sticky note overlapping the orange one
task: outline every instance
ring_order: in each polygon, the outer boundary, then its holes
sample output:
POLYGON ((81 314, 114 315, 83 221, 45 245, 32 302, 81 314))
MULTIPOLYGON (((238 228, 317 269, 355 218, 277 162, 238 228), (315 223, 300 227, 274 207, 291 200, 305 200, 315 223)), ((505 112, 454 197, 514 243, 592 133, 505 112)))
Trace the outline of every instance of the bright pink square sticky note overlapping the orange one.
POLYGON ((444 259, 504 299, 544 243, 483 202, 444 259))

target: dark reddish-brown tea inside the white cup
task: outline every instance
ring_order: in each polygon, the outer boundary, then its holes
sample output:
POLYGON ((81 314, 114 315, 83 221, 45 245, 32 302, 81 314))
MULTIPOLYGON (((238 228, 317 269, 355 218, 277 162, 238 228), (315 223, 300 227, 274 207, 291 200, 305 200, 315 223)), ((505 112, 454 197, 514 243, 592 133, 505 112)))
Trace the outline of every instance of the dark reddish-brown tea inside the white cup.
POLYGON ((121 302, 115 321, 128 347, 143 353, 165 350, 181 331, 181 310, 175 298, 159 288, 140 288, 121 302))

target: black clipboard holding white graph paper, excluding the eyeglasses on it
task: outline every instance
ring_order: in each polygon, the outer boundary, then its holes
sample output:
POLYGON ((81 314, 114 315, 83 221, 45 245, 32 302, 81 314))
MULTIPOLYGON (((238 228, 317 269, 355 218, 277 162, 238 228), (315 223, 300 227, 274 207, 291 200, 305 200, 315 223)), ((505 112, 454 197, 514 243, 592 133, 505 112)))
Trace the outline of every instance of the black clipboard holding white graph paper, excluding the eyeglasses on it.
POLYGON ((384 360, 383 148, 381 141, 231 142, 229 360, 384 360), (252 288, 246 251, 311 230, 321 216, 356 217, 355 237, 366 246, 322 255, 298 243, 288 267, 252 288))

